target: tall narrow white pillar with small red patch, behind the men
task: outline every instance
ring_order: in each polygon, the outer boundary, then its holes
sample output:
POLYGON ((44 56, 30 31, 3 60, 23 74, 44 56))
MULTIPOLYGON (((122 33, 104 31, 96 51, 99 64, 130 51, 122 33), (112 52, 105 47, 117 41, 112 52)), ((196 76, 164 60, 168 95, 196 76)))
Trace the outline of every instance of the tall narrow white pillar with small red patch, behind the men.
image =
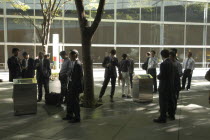
POLYGON ((53 34, 53 65, 55 70, 59 70, 59 34, 53 34))

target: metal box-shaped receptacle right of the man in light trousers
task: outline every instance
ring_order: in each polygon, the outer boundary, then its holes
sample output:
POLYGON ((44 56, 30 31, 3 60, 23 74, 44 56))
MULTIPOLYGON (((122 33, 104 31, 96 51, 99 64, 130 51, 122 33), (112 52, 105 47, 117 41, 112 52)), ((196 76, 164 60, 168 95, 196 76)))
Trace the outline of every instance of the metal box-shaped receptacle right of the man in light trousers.
POLYGON ((135 75, 133 77, 133 101, 153 101, 153 77, 150 74, 135 75))

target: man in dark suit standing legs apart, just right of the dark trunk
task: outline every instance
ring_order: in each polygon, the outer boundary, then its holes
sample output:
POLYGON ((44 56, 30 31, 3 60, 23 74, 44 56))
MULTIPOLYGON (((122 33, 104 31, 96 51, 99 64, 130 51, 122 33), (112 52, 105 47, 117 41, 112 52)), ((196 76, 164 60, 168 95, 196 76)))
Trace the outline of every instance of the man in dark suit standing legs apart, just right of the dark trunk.
POLYGON ((113 102, 113 96, 115 92, 115 83, 117 78, 117 70, 116 67, 118 67, 118 59, 115 57, 116 50, 110 51, 110 56, 107 56, 104 58, 104 61, 102 63, 102 66, 105 68, 105 76, 104 76, 104 82, 103 86, 101 88, 101 92, 99 94, 99 102, 102 102, 102 97, 106 91, 107 85, 111 79, 111 95, 110 95, 110 101, 113 102))

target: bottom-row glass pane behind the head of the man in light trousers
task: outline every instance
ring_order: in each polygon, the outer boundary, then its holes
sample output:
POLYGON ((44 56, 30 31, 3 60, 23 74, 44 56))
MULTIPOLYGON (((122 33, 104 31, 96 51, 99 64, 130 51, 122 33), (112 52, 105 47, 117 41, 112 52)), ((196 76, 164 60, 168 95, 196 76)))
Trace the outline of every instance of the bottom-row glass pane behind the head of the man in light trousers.
POLYGON ((139 67, 139 48, 134 47, 117 47, 117 58, 122 60, 122 54, 127 54, 134 60, 135 67, 139 67))

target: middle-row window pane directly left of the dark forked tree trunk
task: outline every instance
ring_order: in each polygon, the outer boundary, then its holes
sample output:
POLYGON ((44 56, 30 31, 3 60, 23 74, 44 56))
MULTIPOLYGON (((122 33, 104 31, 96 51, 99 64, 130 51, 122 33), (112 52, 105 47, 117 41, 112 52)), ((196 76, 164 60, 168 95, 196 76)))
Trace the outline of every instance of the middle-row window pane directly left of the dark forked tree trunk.
POLYGON ((66 20, 64 27, 65 43, 81 43, 81 34, 78 21, 66 20))

